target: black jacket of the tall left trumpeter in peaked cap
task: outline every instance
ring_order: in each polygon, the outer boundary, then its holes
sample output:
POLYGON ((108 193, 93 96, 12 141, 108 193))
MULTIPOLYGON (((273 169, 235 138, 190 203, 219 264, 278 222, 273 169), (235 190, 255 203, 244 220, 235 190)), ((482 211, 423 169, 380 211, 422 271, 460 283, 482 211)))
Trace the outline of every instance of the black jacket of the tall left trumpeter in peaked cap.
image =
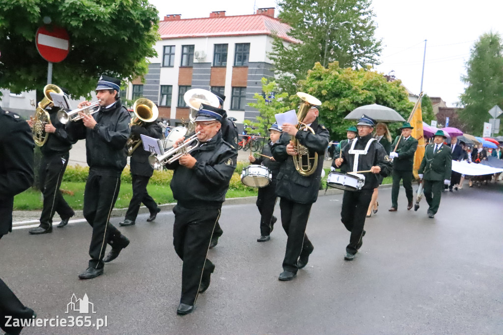
POLYGON ((129 112, 118 99, 110 108, 93 114, 98 122, 93 129, 86 128, 81 120, 68 121, 66 131, 72 139, 86 139, 87 162, 90 171, 120 175, 127 163, 125 150, 131 134, 129 112))

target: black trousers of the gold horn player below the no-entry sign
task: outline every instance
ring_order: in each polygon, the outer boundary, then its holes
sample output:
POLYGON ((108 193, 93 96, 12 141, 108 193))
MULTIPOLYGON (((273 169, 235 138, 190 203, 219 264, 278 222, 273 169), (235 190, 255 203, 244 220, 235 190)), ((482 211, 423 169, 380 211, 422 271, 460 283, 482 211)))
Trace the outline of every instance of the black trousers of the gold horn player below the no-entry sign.
POLYGON ((40 227, 44 229, 52 227, 52 217, 55 212, 63 219, 75 214, 59 191, 61 180, 68 164, 68 157, 68 152, 42 156, 39 181, 40 191, 42 191, 42 195, 44 196, 44 205, 42 214, 40 215, 40 227))

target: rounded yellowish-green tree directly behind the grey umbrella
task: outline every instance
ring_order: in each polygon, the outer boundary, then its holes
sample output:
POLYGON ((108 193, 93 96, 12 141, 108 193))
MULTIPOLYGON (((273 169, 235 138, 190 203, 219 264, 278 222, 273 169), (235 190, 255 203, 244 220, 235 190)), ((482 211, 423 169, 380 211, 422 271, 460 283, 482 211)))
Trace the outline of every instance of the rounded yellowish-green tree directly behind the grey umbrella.
MULTIPOLYGON (((387 106, 406 120, 414 106, 400 80, 387 81, 382 73, 368 68, 341 68, 338 62, 328 64, 327 68, 316 63, 299 86, 300 91, 322 102, 319 118, 333 140, 346 138, 346 129, 355 125, 356 121, 345 120, 344 117, 357 107, 371 104, 387 106)), ((400 125, 388 125, 392 136, 400 125)))

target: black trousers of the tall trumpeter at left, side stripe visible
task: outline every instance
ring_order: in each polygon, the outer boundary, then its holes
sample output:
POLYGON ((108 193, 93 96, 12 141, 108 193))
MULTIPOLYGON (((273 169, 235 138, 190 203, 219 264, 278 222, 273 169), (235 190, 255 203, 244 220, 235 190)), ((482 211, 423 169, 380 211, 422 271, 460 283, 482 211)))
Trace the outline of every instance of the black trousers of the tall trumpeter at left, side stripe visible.
POLYGON ((110 222, 110 213, 114 208, 121 186, 120 176, 96 175, 90 172, 84 192, 83 215, 93 227, 93 236, 89 246, 89 267, 103 269, 103 257, 107 243, 112 247, 122 247, 121 232, 110 222))

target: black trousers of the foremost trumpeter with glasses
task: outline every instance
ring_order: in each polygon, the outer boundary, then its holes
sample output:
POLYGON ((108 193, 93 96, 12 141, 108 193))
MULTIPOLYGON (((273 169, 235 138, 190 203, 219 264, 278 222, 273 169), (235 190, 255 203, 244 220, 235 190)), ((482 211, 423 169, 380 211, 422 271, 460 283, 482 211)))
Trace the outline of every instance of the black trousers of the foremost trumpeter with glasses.
POLYGON ((180 205, 173 208, 173 245, 183 261, 181 303, 194 305, 203 272, 212 273, 215 269, 206 256, 220 210, 221 207, 186 208, 180 205))

